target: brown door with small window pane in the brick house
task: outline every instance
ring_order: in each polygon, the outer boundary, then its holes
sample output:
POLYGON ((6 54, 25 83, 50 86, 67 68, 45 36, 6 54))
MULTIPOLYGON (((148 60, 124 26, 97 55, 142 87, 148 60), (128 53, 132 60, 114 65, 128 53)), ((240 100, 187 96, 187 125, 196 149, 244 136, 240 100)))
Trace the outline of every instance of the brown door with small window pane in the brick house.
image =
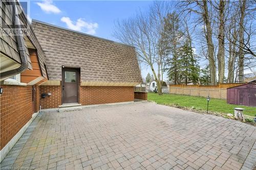
POLYGON ((78 103, 78 70, 62 69, 62 104, 78 103))

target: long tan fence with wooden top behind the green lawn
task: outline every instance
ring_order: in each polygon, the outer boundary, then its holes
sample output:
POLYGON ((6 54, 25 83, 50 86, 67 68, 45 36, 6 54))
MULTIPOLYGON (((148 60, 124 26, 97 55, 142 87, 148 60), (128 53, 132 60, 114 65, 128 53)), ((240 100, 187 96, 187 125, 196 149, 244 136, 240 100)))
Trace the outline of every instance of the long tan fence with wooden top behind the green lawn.
POLYGON ((219 84, 217 86, 202 85, 170 85, 171 94, 193 95, 217 99, 227 99, 227 88, 242 85, 244 83, 219 84))

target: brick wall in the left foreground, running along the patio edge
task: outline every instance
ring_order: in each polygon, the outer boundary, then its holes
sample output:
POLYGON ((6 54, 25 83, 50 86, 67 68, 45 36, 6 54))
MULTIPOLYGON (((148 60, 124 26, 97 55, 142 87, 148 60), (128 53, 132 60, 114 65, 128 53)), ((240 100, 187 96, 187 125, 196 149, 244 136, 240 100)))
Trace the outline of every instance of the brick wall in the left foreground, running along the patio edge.
POLYGON ((33 111, 32 86, 1 86, 0 95, 1 144, 0 150, 31 119, 33 111))

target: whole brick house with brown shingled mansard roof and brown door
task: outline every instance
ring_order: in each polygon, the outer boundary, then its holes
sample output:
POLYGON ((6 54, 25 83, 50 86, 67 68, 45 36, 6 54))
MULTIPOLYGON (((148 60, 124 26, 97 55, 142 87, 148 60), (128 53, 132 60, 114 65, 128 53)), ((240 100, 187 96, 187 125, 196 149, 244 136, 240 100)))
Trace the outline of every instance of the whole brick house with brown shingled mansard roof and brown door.
POLYGON ((40 21, 30 25, 20 5, 1 3, 0 162, 39 108, 134 101, 142 79, 133 46, 40 21), (19 12, 16 19, 10 11, 19 12), (3 32, 16 21, 27 34, 3 32))

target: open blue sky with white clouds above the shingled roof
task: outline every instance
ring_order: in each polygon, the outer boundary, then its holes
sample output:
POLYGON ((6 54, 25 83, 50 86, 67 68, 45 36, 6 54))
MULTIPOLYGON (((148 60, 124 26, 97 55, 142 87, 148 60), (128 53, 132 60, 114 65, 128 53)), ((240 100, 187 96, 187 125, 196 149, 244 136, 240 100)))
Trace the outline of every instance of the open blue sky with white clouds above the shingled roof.
MULTIPOLYGON (((56 26, 115 39, 115 20, 133 16, 136 11, 146 11, 152 1, 30 1, 30 18, 56 26)), ((142 68, 142 77, 151 70, 142 68)))

